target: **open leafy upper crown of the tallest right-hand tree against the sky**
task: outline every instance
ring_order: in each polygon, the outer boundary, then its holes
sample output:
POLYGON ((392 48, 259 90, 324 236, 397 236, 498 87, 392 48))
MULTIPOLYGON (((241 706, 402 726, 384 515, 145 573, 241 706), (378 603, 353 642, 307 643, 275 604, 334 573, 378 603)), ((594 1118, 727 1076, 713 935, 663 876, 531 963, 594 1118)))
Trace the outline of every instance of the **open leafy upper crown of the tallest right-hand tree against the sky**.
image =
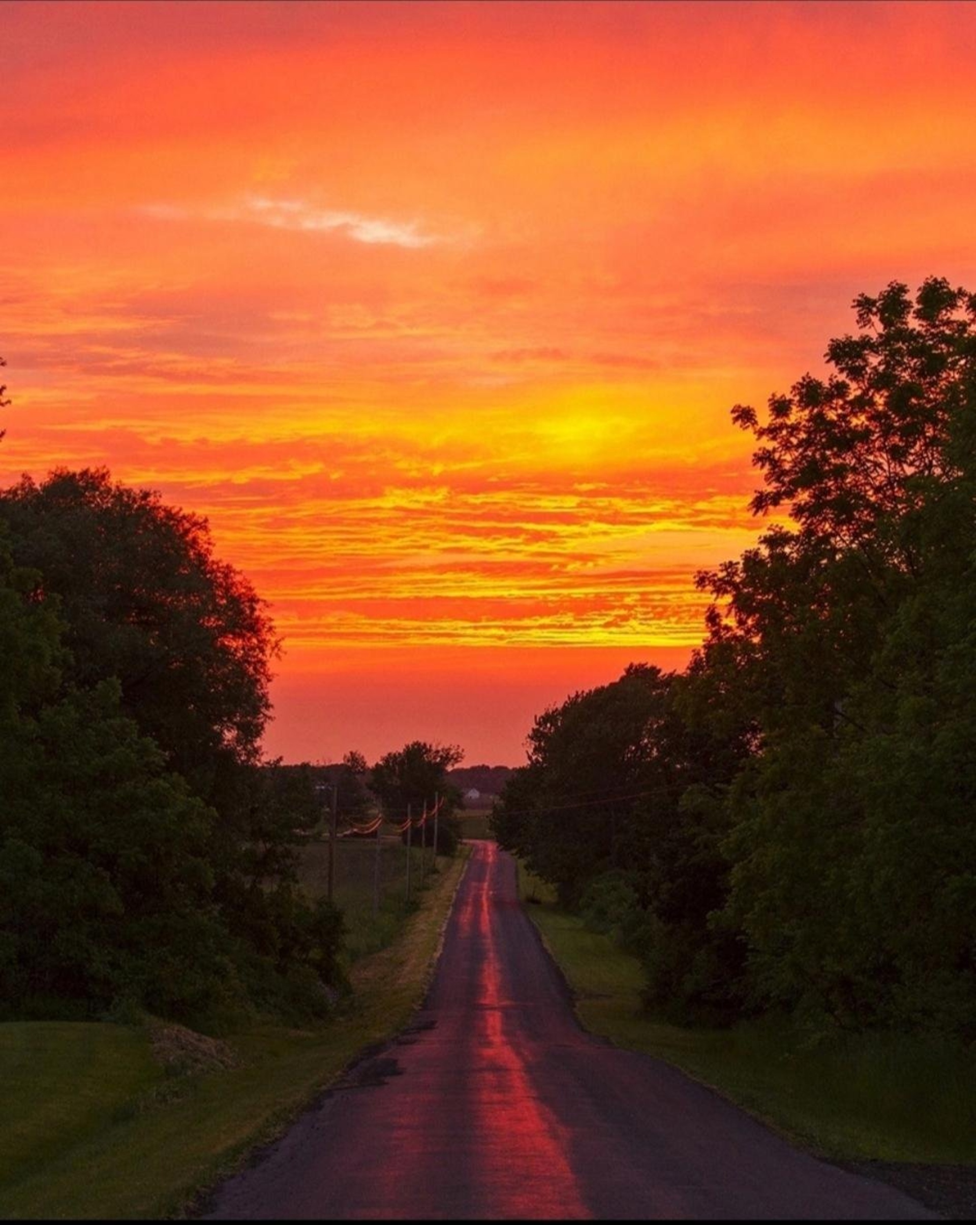
POLYGON ((758 514, 784 510, 737 561, 699 576, 715 598, 707 650, 751 660, 767 724, 833 724, 890 615, 933 567, 959 575, 971 539, 976 295, 929 278, 855 301, 858 336, 734 419, 760 446, 758 514))

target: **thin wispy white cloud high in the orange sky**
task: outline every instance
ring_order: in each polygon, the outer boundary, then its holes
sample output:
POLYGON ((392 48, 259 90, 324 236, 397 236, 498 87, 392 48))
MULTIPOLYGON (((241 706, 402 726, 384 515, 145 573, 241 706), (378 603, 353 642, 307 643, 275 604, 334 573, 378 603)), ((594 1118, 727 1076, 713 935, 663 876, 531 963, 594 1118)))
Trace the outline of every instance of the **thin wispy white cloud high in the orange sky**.
POLYGON ((416 222, 391 221, 388 217, 367 217, 342 209, 316 208, 302 200, 271 200, 251 196, 240 205, 228 208, 184 208, 179 205, 147 205, 142 209, 159 221, 184 221, 203 217, 207 221, 253 222, 274 229, 304 230, 306 233, 338 233, 354 243, 389 244, 393 246, 420 247, 447 241, 437 234, 420 229, 416 222))

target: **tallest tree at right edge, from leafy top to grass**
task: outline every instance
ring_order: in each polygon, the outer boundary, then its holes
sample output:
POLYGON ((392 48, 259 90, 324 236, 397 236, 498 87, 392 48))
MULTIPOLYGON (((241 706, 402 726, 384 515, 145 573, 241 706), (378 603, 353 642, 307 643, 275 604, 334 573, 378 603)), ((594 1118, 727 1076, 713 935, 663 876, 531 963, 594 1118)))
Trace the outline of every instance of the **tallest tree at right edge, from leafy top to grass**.
POLYGON ((974 1033, 976 295, 931 278, 855 307, 835 374, 765 421, 735 409, 753 508, 792 522, 702 576, 703 662, 741 664, 760 730, 726 915, 759 1000, 974 1033))

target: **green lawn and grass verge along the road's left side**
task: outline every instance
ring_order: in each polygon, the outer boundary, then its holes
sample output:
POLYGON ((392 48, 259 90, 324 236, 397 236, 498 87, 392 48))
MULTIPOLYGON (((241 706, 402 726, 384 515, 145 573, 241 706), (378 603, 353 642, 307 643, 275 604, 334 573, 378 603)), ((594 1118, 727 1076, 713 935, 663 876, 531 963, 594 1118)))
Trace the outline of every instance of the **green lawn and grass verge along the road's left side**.
MULTIPOLYGON (((343 848, 337 861, 344 865, 337 883, 360 900, 361 849, 343 848)), ((441 871, 429 875, 429 887, 405 908, 396 900, 397 851, 405 876, 407 851, 383 848, 389 859, 383 905, 396 916, 388 929, 396 938, 356 956, 354 1001, 323 1025, 255 1024, 222 1044, 230 1066, 205 1060, 189 1073, 153 1057, 152 1027, 0 1025, 0 1219, 180 1214, 256 1144, 279 1133, 360 1050, 400 1029, 426 990, 465 856, 441 859, 441 871)), ((312 855, 307 871, 317 870, 312 855)), ((371 889, 371 877, 369 883, 371 889)), ((365 938, 365 926, 354 926, 365 938)), ((378 927, 369 938, 378 938, 378 927)), ((187 1049, 200 1041, 178 1027, 169 1033, 187 1049)))

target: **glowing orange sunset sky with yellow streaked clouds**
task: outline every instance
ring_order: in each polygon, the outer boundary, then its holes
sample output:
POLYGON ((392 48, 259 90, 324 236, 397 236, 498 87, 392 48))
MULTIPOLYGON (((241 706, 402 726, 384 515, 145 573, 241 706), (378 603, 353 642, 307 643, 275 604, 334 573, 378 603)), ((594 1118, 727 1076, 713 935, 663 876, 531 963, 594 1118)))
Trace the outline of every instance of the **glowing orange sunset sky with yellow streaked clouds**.
POLYGON ((976 6, 0 2, 0 479, 209 516, 267 747, 517 763, 681 666, 760 404, 976 284, 976 6))

